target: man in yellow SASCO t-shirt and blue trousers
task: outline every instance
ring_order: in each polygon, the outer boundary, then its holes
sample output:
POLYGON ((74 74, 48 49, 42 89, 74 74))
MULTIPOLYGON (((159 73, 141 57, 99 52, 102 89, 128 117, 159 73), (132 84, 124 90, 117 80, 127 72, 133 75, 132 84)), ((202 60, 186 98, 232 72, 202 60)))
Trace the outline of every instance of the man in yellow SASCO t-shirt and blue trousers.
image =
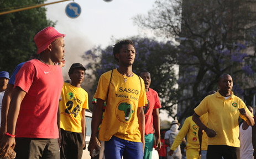
POLYGON ((113 47, 119 67, 101 75, 93 108, 92 135, 88 150, 98 151, 96 133, 102 118, 103 104, 107 107, 102 120, 99 140, 105 141, 105 158, 143 158, 145 117, 147 104, 144 81, 132 72, 135 47, 132 41, 123 40, 113 47))

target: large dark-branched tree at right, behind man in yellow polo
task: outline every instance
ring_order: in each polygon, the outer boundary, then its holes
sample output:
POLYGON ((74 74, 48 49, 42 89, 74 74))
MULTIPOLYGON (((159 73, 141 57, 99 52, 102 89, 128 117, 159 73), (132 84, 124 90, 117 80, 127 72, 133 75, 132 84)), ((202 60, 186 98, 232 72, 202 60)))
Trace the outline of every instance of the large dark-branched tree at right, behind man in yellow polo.
POLYGON ((255 8, 254 1, 158 0, 147 15, 134 18, 138 26, 180 43, 170 60, 179 65, 180 119, 190 116, 208 91, 217 90, 223 73, 232 75, 238 96, 256 86, 255 8))

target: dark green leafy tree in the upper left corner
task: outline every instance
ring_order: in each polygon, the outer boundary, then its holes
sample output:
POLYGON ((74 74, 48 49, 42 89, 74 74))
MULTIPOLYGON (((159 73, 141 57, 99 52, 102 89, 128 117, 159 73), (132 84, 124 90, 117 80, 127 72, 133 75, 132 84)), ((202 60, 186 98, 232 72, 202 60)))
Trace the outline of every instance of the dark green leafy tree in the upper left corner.
MULTIPOLYGON (((0 1, 1 12, 44 3, 46 0, 0 1)), ((25 62, 37 52, 35 34, 46 26, 54 26, 46 19, 45 7, 0 15, 0 70, 12 73, 17 64, 25 62)))

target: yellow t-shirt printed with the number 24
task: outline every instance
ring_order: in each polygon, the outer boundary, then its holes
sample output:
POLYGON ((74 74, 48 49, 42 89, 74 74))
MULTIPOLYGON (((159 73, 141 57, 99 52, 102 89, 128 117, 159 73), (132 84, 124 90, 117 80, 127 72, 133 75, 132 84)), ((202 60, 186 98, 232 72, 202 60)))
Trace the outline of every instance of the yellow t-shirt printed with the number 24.
POLYGON ((88 94, 81 87, 64 83, 61 91, 60 128, 75 133, 82 132, 82 109, 88 109, 88 94))

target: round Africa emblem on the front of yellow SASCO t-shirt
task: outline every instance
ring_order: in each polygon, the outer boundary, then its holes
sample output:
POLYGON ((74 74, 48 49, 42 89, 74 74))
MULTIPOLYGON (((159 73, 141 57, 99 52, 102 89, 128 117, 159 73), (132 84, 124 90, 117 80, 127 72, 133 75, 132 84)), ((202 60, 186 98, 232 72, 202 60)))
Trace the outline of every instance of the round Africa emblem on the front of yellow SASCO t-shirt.
POLYGON ((128 124, 134 119, 134 108, 131 100, 123 100, 116 107, 116 117, 120 122, 128 124))

